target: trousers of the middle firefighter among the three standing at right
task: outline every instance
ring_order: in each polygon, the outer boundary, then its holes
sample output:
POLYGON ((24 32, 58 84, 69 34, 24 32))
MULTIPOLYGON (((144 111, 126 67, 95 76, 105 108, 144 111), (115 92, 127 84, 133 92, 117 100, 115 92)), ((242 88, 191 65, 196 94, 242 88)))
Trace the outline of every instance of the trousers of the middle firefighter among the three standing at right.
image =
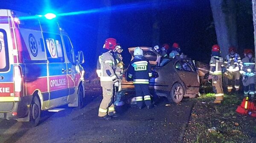
POLYGON ((235 79, 235 88, 236 88, 236 91, 239 90, 239 84, 240 84, 240 73, 239 71, 236 71, 236 72, 232 72, 230 73, 231 74, 231 79, 228 79, 228 83, 227 83, 227 91, 228 92, 231 92, 231 90, 233 89, 233 79, 235 79))

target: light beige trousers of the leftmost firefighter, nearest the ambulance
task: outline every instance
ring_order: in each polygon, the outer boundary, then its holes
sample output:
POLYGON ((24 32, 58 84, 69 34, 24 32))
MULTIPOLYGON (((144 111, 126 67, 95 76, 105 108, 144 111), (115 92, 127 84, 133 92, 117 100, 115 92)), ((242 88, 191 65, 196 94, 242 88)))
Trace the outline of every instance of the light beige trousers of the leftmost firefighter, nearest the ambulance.
POLYGON ((113 84, 102 86, 103 99, 99 106, 99 117, 113 115, 115 107, 113 104, 113 84))

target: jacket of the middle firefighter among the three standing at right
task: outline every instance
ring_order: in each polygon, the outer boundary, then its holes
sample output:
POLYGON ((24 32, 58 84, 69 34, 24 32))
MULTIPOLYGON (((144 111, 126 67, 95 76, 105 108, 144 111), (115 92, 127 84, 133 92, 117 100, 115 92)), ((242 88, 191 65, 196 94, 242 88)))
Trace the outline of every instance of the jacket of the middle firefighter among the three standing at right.
POLYGON ((241 58, 238 53, 233 56, 228 54, 225 58, 224 66, 227 68, 229 72, 239 71, 239 63, 241 62, 241 58))

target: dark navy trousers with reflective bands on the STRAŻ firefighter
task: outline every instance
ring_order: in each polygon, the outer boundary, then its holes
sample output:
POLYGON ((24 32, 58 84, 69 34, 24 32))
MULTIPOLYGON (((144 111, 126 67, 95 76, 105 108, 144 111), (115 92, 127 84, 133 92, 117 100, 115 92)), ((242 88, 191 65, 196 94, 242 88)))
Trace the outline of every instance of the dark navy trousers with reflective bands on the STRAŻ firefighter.
POLYGON ((148 84, 134 84, 136 92, 136 102, 138 107, 143 106, 143 99, 147 106, 151 106, 151 98, 148 84))

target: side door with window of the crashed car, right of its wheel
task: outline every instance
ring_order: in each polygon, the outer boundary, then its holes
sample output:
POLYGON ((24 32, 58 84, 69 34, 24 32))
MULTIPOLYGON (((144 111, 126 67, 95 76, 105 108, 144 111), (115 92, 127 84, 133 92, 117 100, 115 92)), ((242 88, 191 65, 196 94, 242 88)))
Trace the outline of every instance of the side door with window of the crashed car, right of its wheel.
POLYGON ((193 62, 189 59, 180 59, 175 63, 175 68, 186 86, 186 93, 196 93, 199 88, 199 78, 193 62))

